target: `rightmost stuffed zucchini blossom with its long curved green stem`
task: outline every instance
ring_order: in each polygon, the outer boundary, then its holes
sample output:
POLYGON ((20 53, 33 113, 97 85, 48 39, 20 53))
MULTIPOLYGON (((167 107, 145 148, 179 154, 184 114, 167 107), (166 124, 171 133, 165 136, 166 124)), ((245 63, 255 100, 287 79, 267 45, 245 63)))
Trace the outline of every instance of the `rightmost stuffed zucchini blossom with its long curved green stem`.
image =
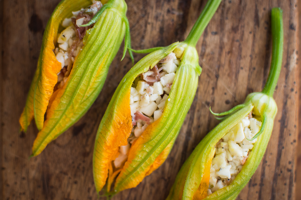
POLYGON ((272 9, 272 61, 262 92, 226 115, 197 145, 178 172, 168 200, 235 199, 256 171, 272 134, 277 105, 273 93, 283 52, 282 10, 272 9))

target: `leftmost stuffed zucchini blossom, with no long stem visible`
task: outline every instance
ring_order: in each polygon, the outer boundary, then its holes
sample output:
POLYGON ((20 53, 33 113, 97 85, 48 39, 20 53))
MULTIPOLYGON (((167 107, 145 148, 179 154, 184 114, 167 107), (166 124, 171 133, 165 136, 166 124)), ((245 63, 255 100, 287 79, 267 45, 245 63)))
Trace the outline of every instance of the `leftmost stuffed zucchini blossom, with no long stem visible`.
POLYGON ((27 131, 33 118, 39 129, 32 156, 88 111, 124 35, 123 57, 130 47, 126 2, 103 3, 63 0, 47 23, 38 67, 20 117, 21 131, 27 131))

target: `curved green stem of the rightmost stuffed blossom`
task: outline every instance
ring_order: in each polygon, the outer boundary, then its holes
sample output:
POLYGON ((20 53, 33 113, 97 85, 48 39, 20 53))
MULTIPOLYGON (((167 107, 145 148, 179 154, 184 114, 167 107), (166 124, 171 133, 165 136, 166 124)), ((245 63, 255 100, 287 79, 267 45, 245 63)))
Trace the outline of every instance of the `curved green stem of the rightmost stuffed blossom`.
POLYGON ((268 79, 262 93, 273 97, 278 82, 283 52, 283 21, 281 8, 272 9, 272 60, 268 79))

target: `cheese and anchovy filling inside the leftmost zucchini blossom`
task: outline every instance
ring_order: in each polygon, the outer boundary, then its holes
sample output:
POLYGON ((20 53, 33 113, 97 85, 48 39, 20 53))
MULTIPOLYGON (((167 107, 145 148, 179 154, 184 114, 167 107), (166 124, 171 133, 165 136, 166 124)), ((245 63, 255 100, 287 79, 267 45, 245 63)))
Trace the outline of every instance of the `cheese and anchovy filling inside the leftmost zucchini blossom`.
POLYGON ((54 54, 61 63, 61 71, 57 74, 57 84, 54 91, 63 87, 67 82, 67 78, 73 67, 76 56, 82 51, 83 38, 88 29, 94 24, 86 27, 80 27, 87 24, 94 15, 101 9, 102 3, 95 1, 91 6, 79 11, 72 12, 73 16, 65 18, 62 21, 62 26, 65 28, 57 37, 57 45, 54 49, 54 54))

